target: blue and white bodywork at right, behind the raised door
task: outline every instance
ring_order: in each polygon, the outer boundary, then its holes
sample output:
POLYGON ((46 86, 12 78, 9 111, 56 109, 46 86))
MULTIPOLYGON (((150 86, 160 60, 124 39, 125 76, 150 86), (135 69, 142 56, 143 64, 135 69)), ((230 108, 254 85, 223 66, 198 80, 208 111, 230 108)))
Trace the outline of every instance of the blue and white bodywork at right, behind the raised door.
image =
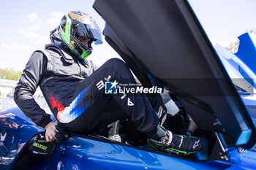
POLYGON ((243 90, 238 90, 252 119, 256 118, 256 35, 245 33, 238 36, 240 45, 237 53, 230 53, 221 45, 216 45, 222 64, 225 66, 233 83, 243 90))

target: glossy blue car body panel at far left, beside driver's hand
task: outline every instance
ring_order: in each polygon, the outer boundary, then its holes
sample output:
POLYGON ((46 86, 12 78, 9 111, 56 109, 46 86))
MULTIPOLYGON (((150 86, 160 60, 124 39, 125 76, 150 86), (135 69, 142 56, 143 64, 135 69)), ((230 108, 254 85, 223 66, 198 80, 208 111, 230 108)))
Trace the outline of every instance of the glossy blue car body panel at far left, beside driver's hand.
POLYGON ((24 120, 16 114, 22 115, 23 112, 20 109, 10 109, 0 114, 0 169, 11 169, 31 138, 44 131, 31 123, 29 118, 24 120))

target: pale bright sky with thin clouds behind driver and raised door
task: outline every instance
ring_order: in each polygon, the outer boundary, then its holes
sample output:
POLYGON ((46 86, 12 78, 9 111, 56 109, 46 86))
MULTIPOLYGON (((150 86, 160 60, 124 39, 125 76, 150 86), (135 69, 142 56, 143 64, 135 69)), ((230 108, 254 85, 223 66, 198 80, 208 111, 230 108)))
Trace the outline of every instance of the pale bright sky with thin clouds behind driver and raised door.
MULTIPOLYGON (((146 0, 145 0, 146 1, 146 0)), ((189 0, 211 42, 228 42, 246 29, 256 28, 255 0, 189 0)), ((50 42, 49 31, 59 25, 64 13, 83 10, 104 28, 105 22, 94 11, 94 0, 9 0, 0 6, 0 68, 22 71, 34 50, 50 42)), ((89 57, 100 66, 118 54, 104 42, 94 45, 89 57)))

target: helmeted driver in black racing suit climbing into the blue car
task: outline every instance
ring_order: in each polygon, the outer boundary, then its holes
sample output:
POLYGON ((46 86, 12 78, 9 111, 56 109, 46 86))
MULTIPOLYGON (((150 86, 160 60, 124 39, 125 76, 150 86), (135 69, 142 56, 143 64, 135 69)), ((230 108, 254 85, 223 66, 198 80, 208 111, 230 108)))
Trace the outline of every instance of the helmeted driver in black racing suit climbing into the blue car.
POLYGON ((136 83, 127 65, 112 58, 102 66, 87 60, 92 43, 102 44, 102 35, 94 18, 81 11, 64 15, 50 33, 51 44, 37 50, 29 59, 15 88, 15 102, 25 115, 45 128, 47 142, 56 140, 56 123, 33 98, 37 87, 51 112, 67 131, 87 134, 129 117, 138 131, 148 136, 155 150, 179 155, 203 150, 202 139, 173 134, 159 126, 157 113, 143 94, 105 95, 105 82, 136 83), (106 112, 108 110, 111 112, 106 112), (122 110, 124 113, 118 112, 122 110), (115 112, 115 110, 117 110, 115 112))

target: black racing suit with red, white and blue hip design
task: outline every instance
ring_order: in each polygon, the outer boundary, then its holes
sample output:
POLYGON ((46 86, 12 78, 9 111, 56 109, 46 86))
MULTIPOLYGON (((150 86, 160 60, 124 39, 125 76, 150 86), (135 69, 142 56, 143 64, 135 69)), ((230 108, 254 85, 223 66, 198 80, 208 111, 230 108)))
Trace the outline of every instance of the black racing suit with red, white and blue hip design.
POLYGON ((85 134, 122 117, 129 117, 145 133, 159 124, 146 96, 105 94, 106 81, 135 83, 123 61, 113 58, 97 69, 61 45, 46 45, 45 51, 31 55, 15 88, 16 104, 37 125, 45 127, 52 121, 34 101, 32 95, 38 86, 53 115, 68 131, 85 134))

